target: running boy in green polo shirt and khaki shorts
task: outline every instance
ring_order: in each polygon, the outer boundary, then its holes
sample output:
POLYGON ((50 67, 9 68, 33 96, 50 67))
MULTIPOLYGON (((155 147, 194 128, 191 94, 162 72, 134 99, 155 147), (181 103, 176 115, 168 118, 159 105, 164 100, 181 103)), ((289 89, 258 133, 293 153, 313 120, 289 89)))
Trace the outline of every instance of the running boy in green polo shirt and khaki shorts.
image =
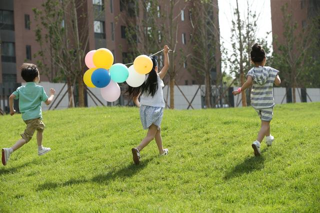
POLYGON ((44 123, 42 122, 41 104, 42 101, 49 105, 53 100, 55 90, 50 88, 50 97, 45 94, 42 86, 36 85, 40 76, 36 65, 32 63, 23 63, 21 65, 21 76, 26 81, 26 85, 20 86, 9 97, 10 115, 15 113, 13 108, 13 99, 19 99, 19 109, 22 113, 22 119, 26 124, 21 139, 11 148, 2 148, 2 164, 6 165, 10 154, 22 145, 30 141, 36 130, 36 141, 38 144, 38 155, 45 154, 51 149, 42 146, 42 136, 44 123))

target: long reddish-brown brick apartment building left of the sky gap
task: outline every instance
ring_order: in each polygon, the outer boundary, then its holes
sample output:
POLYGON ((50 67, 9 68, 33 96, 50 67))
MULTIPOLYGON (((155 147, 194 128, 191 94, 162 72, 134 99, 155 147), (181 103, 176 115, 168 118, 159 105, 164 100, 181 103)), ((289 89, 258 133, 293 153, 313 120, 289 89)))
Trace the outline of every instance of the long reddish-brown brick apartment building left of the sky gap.
MULTIPOLYGON (((20 64, 24 61, 36 63, 37 58, 34 58, 33 55, 40 47, 35 40, 36 22, 32 8, 40 9, 43 1, 0 0, 0 100, 2 100, 0 101, 0 108, 2 109, 7 109, 7 96, 23 82, 19 71, 20 64)), ((135 1, 85 1, 88 10, 92 9, 94 13, 99 12, 99 15, 95 17, 93 17, 94 15, 88 15, 88 22, 92 23, 88 26, 88 50, 106 47, 113 52, 114 62, 124 62, 127 52, 130 52, 130 47, 126 39, 125 18, 119 18, 119 16, 128 15, 128 11, 123 5, 135 1)), ((169 2, 169 0, 162 1, 162 3, 169 2)), ((218 18, 217 0, 212 1, 216 4, 216 7, 213 8, 214 16, 218 18)), ((157 7, 157 9, 163 8, 162 6, 157 7)), ((177 49, 183 49, 186 52, 191 51, 187 49, 186 45, 190 40, 192 30, 189 12, 190 5, 185 5, 184 0, 180 0, 179 4, 174 7, 174 13, 179 18, 177 49)), ((171 63, 176 64, 179 62, 171 61, 171 63)), ((177 83, 180 85, 197 84, 189 71, 187 71, 188 62, 183 63, 176 78, 177 83)), ((220 69, 220 65, 218 69, 220 69)), ((212 70, 211 73, 212 81, 215 82, 215 70, 212 70)), ((40 77, 41 81, 51 81, 54 78, 54 73, 41 75, 40 77)))

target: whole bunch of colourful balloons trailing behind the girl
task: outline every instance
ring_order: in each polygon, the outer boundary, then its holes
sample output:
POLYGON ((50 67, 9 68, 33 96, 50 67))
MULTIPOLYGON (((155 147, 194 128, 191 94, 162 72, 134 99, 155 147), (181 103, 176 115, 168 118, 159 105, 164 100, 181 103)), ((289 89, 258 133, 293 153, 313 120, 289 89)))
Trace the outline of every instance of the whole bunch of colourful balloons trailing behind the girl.
POLYGON ((113 64, 113 54, 107 48, 89 51, 84 62, 89 68, 83 75, 85 85, 100 88, 103 99, 109 102, 117 100, 120 96, 117 83, 126 81, 129 86, 138 87, 153 66, 151 58, 147 55, 137 56, 129 68, 122 63, 113 64))

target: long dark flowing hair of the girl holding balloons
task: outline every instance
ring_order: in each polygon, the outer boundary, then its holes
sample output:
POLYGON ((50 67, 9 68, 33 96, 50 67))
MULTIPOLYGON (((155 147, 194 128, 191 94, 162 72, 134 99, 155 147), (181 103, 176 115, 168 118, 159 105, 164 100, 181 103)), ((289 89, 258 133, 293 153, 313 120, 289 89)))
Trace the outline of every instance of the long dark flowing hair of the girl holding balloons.
POLYGON ((139 95, 140 93, 142 94, 143 92, 146 92, 147 95, 151 95, 152 97, 154 96, 156 90, 158 89, 158 83, 157 83, 157 73, 155 71, 155 66, 157 66, 157 61, 156 59, 158 58, 157 56, 150 56, 153 66, 151 71, 149 72, 149 75, 142 83, 142 85, 138 87, 132 87, 132 86, 127 86, 126 93, 129 94, 130 97, 135 97, 139 95))

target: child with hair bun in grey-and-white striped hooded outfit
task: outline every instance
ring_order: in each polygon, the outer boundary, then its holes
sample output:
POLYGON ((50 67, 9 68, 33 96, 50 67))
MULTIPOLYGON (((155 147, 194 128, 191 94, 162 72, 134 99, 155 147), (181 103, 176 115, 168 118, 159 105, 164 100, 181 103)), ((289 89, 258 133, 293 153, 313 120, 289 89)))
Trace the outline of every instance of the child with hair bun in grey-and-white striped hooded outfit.
POLYGON ((275 85, 280 85, 280 77, 278 75, 279 71, 269 67, 264 66, 266 58, 265 51, 261 46, 255 43, 250 52, 251 63, 254 64, 248 73, 246 74, 247 80, 241 87, 237 90, 232 91, 233 95, 241 93, 250 87, 251 89, 251 105, 258 113, 261 119, 261 128, 257 135, 256 140, 252 143, 252 148, 255 156, 261 155, 260 152, 260 142, 262 141, 264 135, 266 136, 266 145, 270 146, 274 137, 270 134, 270 121, 273 115, 273 83, 275 85))

